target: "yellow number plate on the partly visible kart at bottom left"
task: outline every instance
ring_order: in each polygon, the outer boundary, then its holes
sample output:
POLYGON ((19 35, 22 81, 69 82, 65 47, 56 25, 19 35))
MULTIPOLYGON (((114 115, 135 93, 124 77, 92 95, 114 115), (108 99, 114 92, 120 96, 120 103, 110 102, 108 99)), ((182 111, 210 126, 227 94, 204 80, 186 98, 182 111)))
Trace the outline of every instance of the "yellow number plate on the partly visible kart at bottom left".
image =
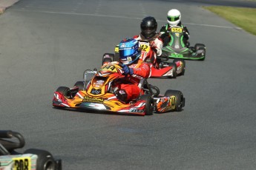
POLYGON ((31 169, 31 158, 30 157, 13 157, 14 169, 13 170, 30 170, 31 169))

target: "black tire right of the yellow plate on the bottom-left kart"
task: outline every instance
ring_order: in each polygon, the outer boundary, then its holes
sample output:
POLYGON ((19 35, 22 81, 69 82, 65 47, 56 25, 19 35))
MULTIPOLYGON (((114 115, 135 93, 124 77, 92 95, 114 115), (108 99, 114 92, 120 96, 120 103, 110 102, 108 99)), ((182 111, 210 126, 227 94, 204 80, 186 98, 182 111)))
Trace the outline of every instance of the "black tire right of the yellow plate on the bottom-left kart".
POLYGON ((56 163, 50 152, 41 149, 27 149, 24 154, 36 154, 36 170, 55 170, 56 163))

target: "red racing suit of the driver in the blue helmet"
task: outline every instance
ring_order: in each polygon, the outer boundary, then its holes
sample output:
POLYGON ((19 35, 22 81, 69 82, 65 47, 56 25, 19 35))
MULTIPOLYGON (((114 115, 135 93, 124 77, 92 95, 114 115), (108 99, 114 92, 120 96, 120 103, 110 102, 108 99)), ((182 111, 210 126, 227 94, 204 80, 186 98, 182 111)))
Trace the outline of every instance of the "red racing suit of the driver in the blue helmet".
POLYGON ((138 86, 142 78, 148 78, 150 75, 150 66, 138 59, 135 63, 128 65, 131 70, 125 80, 118 81, 114 85, 117 90, 116 97, 119 100, 128 103, 129 101, 140 96, 141 89, 138 86))

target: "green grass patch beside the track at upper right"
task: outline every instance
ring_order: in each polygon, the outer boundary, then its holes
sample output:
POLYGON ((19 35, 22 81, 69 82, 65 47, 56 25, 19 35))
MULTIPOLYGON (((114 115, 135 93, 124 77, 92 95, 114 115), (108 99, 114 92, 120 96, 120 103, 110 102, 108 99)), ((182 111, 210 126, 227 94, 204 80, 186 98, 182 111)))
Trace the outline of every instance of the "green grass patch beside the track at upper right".
POLYGON ((256 35, 256 8, 222 6, 204 8, 256 35))

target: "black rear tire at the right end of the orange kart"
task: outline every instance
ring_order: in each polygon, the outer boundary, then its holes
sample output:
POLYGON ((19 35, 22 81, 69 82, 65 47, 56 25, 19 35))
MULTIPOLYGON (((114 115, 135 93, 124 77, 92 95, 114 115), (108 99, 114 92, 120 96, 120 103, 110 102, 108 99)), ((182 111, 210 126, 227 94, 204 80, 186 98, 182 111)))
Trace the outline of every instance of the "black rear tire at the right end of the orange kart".
POLYGON ((174 96, 176 98, 176 101, 174 103, 174 109, 171 111, 182 111, 183 106, 185 106, 185 98, 183 97, 182 92, 180 92, 179 90, 168 89, 165 92, 165 96, 174 96))

